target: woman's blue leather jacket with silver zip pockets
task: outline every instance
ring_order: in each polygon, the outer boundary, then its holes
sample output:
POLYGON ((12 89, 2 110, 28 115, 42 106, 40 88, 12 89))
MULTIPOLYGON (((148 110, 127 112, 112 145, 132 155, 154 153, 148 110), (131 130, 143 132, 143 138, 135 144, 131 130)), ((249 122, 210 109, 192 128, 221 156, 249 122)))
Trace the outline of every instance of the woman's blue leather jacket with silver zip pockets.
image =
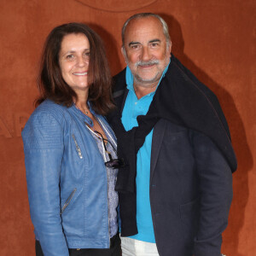
POLYGON ((22 131, 31 218, 44 256, 109 247, 106 168, 85 122, 91 120, 74 106, 46 100, 22 131))

